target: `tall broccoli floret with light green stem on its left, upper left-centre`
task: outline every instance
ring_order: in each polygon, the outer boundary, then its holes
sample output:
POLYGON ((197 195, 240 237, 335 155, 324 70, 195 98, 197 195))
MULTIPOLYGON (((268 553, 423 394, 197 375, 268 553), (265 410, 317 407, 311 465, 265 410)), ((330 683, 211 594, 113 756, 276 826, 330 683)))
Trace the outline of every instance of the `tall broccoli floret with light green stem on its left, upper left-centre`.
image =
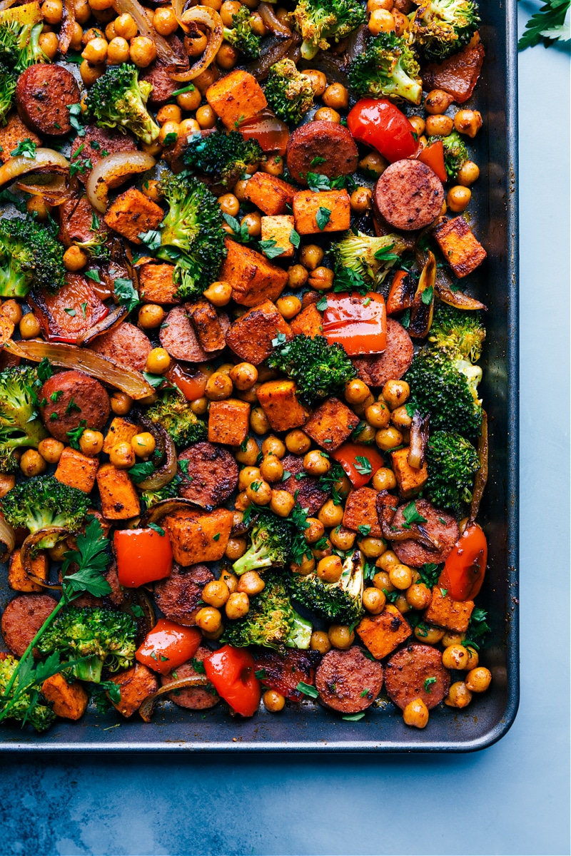
POLYGON ((220 205, 202 181, 185 175, 165 171, 159 189, 169 211, 161 224, 158 258, 175 265, 177 296, 200 297, 216 280, 226 255, 220 205))

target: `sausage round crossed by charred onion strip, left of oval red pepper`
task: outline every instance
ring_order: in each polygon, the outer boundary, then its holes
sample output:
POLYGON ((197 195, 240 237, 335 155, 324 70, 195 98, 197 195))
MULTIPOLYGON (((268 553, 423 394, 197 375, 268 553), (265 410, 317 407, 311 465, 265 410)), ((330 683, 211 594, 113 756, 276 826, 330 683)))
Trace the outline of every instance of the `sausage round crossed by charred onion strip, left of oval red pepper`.
MULTIPOLYGON (((396 509, 392 526, 401 529, 407 522, 403 512, 408 504, 407 502, 396 509)), ((455 517, 452 514, 447 514, 445 511, 434 508, 432 503, 428 502, 427 499, 417 499, 414 505, 417 512, 422 517, 425 517, 426 522, 421 524, 413 523, 410 526, 414 528, 422 526, 437 549, 428 550, 427 547, 423 547, 422 544, 418 544, 416 541, 395 541, 393 543, 393 550, 396 556, 398 556, 400 562, 404 565, 410 565, 412 568, 421 568, 427 562, 436 562, 437 564, 444 562, 460 537, 460 530, 455 517)))

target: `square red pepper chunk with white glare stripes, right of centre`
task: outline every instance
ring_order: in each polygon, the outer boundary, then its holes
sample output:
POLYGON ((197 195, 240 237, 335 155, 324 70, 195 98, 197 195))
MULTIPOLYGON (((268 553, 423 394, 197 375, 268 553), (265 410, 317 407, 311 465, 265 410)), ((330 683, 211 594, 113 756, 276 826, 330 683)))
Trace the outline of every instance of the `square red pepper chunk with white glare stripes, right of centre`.
POLYGON ((328 294, 323 335, 350 357, 380 354, 387 347, 387 312, 382 294, 328 294))

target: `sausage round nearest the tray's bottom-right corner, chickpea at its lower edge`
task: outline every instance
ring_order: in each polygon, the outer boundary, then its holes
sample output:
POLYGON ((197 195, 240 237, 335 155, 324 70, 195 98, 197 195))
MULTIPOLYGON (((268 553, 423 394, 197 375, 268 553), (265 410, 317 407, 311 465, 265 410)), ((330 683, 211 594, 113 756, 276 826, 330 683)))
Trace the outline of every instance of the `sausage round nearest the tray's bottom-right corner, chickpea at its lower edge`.
POLYGON ((442 653, 432 645, 407 645, 384 666, 384 686, 390 700, 404 710, 414 698, 422 698, 428 710, 448 694, 450 673, 442 653))

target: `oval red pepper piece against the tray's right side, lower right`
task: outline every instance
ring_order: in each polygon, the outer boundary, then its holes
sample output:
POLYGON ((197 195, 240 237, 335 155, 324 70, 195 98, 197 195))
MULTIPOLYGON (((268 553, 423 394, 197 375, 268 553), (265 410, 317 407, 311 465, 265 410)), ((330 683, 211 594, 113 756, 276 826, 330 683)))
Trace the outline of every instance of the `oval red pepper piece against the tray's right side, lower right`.
POLYGON ((449 554, 438 586, 453 600, 473 600, 479 593, 488 561, 488 543, 477 523, 467 526, 449 554))

